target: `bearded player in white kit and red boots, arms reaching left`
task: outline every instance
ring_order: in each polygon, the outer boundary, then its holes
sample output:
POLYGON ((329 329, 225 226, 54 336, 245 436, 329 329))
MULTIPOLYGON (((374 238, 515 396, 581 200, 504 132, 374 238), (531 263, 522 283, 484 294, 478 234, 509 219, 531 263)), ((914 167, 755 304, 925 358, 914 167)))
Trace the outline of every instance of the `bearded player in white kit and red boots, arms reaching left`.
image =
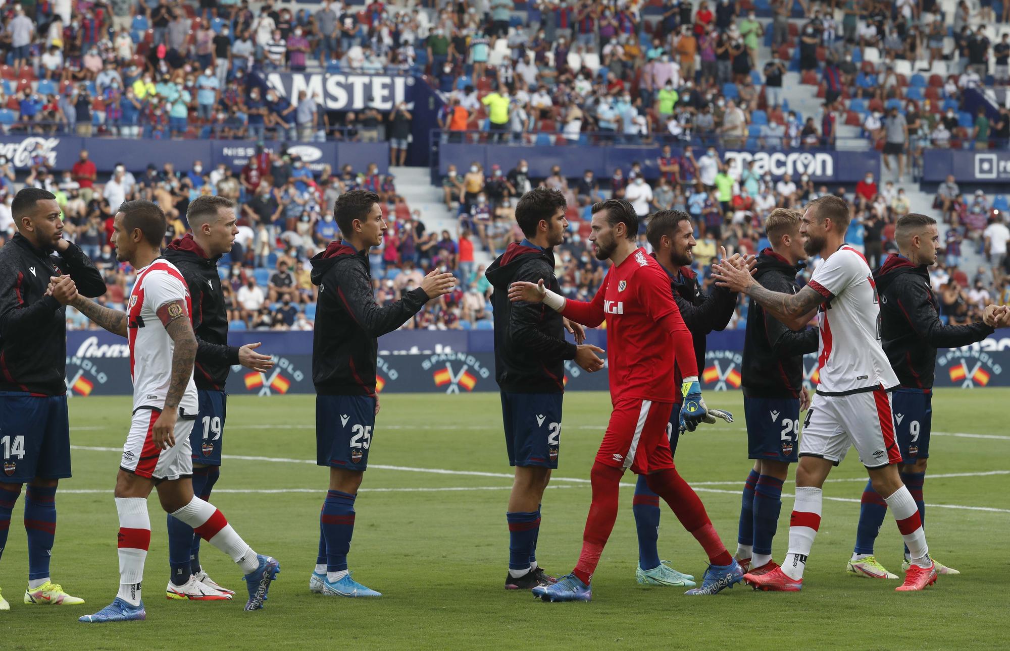
POLYGON ((781 567, 746 580, 769 591, 798 592, 820 527, 821 486, 855 445, 870 481, 891 507, 912 562, 899 591, 919 591, 936 580, 915 500, 901 483, 901 452, 894 436, 889 391, 898 378, 880 343, 877 286, 863 254, 845 244, 849 206, 827 194, 807 204, 800 226, 808 255, 823 262, 798 293, 772 291, 732 264, 714 265, 718 284, 741 291, 767 312, 798 329, 817 313, 820 384, 807 411, 796 469, 796 501, 790 517, 789 553, 781 567))

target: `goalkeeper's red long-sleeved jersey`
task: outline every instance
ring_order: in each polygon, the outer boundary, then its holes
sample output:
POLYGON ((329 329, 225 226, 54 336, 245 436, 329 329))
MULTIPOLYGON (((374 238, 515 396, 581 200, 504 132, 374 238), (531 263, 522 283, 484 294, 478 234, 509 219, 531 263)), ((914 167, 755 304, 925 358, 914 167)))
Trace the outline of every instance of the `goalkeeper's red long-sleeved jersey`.
POLYGON ((594 328, 606 319, 612 402, 677 402, 674 365, 684 377, 698 375, 691 333, 674 302, 670 277, 643 249, 610 268, 592 301, 570 299, 562 313, 594 328))

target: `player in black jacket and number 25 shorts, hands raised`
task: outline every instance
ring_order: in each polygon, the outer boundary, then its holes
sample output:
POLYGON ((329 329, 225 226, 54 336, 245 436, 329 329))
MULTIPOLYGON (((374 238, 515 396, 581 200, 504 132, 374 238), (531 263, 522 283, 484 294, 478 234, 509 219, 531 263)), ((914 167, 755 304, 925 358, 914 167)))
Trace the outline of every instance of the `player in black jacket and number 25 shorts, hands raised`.
POLYGON ((364 189, 340 194, 333 216, 343 239, 312 258, 319 285, 312 340, 316 389, 316 464, 329 468, 329 492, 319 514, 319 554, 309 590, 327 596, 381 597, 347 571, 355 531, 355 498, 368 468, 379 413, 378 338, 407 322, 425 302, 452 290, 451 273, 432 271, 400 300, 379 306, 372 293, 369 251, 382 244, 386 221, 379 196, 364 189))

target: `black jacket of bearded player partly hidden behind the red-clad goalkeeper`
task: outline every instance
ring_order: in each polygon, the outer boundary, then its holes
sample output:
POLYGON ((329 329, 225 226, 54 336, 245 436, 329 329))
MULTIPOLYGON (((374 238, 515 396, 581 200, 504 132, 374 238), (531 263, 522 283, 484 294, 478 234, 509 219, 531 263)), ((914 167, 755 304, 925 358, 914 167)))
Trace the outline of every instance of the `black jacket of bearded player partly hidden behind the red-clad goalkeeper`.
MULTIPOLYGON (((655 254, 651 254, 655 257, 655 254)), ((670 276, 670 288, 674 292, 674 301, 681 310, 684 323, 691 331, 691 338, 694 340, 695 361, 698 364, 698 372, 705 368, 705 352, 708 350, 707 336, 712 331, 721 331, 733 317, 736 310, 736 293, 715 287, 708 294, 701 293, 698 284, 698 274, 691 270, 691 267, 681 267, 681 272, 677 276, 670 276)), ((680 367, 674 369, 677 386, 680 387, 681 375, 680 367)), ((682 400, 680 391, 675 394, 676 402, 682 400)))

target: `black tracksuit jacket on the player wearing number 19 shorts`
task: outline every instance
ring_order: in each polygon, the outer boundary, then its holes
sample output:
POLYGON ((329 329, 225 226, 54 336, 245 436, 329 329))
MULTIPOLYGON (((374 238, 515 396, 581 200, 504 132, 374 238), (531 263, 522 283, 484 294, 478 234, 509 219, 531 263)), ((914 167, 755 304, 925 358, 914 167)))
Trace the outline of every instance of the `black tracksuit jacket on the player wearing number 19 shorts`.
POLYGON ((228 346, 228 313, 217 275, 221 256, 208 258, 188 233, 169 244, 163 256, 182 272, 193 301, 193 332, 198 344, 193 370, 196 388, 224 391, 229 369, 238 364, 238 347, 228 346))

